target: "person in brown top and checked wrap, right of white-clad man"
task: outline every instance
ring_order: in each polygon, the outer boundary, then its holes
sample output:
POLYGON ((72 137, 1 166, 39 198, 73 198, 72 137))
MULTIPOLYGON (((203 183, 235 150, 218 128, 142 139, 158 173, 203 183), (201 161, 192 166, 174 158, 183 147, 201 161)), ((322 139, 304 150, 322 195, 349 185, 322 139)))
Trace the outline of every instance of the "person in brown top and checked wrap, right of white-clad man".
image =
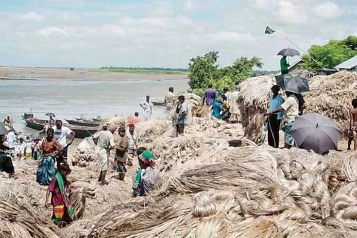
POLYGON ((119 172, 119 180, 124 181, 125 173, 126 173, 126 159, 128 157, 128 140, 125 135, 125 128, 120 127, 118 130, 120 136, 119 145, 116 147, 115 160, 117 161, 116 170, 119 172))

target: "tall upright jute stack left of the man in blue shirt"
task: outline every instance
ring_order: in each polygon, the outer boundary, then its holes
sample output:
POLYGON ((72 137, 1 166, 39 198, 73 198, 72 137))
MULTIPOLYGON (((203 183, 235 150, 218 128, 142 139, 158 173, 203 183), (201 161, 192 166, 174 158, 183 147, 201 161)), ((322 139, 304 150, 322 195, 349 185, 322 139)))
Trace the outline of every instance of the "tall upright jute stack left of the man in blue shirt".
POLYGON ((239 110, 244 135, 257 141, 261 136, 261 128, 265 123, 274 76, 259 76, 248 78, 240 83, 239 110))

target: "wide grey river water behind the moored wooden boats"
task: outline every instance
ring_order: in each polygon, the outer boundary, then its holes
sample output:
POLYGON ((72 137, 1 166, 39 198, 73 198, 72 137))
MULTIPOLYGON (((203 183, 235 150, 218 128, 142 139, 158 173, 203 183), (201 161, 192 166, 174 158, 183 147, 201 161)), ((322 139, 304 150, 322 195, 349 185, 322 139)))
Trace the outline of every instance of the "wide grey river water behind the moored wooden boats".
MULTIPOLYGON (((46 119, 52 112, 57 119, 73 119, 84 114, 87 118, 111 118, 116 114, 142 114, 139 103, 150 95, 152 101, 163 101, 168 88, 175 93, 187 90, 187 80, 143 81, 24 81, 0 80, 0 119, 13 118, 14 127, 24 134, 34 133, 21 120, 24 112, 46 119)), ((165 117, 164 107, 153 107, 153 119, 165 117)))

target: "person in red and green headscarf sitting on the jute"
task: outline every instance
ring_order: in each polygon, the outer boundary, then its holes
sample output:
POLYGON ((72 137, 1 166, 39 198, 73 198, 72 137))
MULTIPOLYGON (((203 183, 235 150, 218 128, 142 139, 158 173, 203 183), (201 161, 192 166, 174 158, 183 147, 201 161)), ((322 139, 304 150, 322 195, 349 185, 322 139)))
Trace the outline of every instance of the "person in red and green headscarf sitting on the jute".
POLYGON ((153 190, 162 186, 161 176, 158 170, 155 170, 155 161, 153 153, 144 147, 137 149, 139 160, 139 170, 133 181, 133 196, 147 196, 153 190))

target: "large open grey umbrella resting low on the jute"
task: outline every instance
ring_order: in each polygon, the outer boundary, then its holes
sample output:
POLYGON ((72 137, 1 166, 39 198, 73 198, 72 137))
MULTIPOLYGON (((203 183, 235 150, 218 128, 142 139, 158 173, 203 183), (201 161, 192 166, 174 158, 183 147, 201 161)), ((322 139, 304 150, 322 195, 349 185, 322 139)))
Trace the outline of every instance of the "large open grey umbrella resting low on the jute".
POLYGON ((317 113, 297 117, 289 133, 297 147, 317 153, 336 150, 342 134, 332 119, 317 113))

